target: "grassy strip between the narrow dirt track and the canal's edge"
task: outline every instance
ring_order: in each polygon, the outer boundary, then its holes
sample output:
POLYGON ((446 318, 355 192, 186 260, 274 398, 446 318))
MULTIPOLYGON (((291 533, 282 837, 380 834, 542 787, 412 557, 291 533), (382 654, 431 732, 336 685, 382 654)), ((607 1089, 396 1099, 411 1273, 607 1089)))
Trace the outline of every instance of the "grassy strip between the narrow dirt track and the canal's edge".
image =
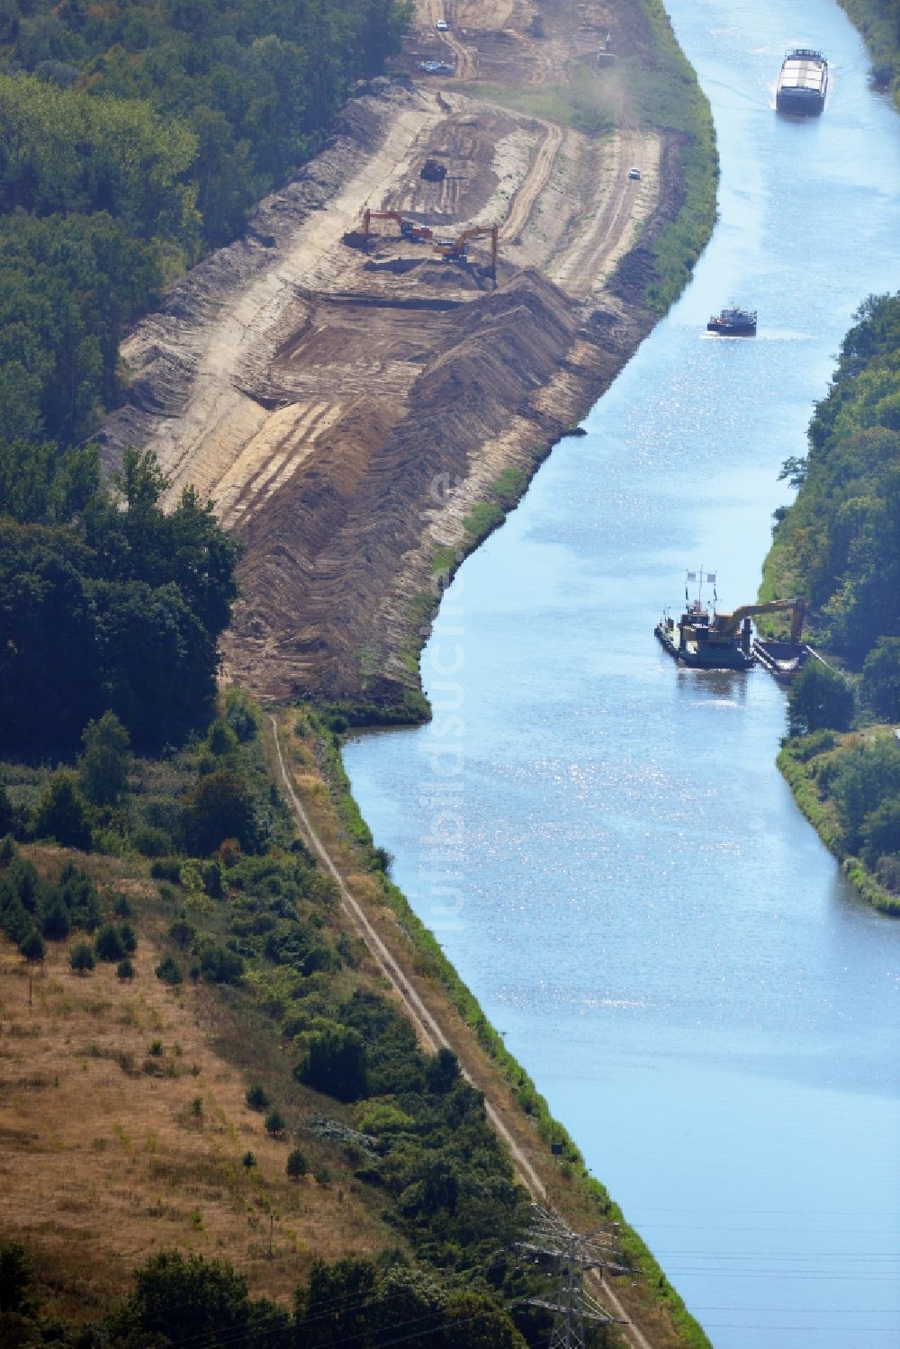
POLYGON ((502 1036, 484 1016, 478 1000, 444 955, 433 932, 412 909, 406 896, 390 880, 390 858, 374 843, 371 831, 356 804, 340 755, 340 741, 320 715, 305 708, 297 720, 297 734, 305 745, 314 743, 317 759, 328 785, 331 805, 337 815, 340 836, 352 843, 360 870, 372 878, 375 904, 387 907, 407 943, 406 960, 413 971, 436 986, 449 1000, 463 1024, 472 1032, 479 1048, 497 1068, 510 1093, 511 1101, 529 1122, 537 1139, 551 1148, 560 1148, 556 1176, 561 1188, 555 1188, 553 1202, 573 1226, 582 1230, 602 1222, 621 1224, 621 1249, 627 1264, 640 1273, 644 1296, 671 1321, 677 1333, 677 1344, 703 1349, 708 1340, 702 1326, 690 1315, 677 1291, 665 1278, 652 1252, 626 1222, 619 1206, 604 1186, 594 1179, 584 1157, 564 1126, 553 1118, 545 1098, 534 1082, 509 1052, 502 1036))

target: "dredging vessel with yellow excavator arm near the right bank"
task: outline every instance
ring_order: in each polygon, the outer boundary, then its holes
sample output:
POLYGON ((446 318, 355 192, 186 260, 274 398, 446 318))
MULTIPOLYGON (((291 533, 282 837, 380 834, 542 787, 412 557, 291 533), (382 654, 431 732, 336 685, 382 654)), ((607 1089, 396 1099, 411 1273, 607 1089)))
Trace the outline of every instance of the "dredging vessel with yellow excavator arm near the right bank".
MULTIPOLYGON (((690 665, 694 669, 750 669, 757 658, 752 638, 752 616, 756 614, 775 614, 788 608, 792 611, 789 645, 792 649, 797 649, 800 626, 803 623, 803 604, 800 600, 772 599, 762 604, 742 604, 731 614, 719 614, 715 610, 715 572, 688 572, 684 585, 684 611, 677 623, 667 612, 653 629, 657 641, 663 643, 669 656, 675 657, 679 664, 690 665), (688 596, 688 584, 691 581, 698 581, 695 599, 690 599, 688 596), (712 585, 714 607, 711 611, 703 600, 704 581, 712 585)), ((779 645, 788 646, 788 643, 779 645)), ((768 665, 769 662, 764 661, 764 664, 768 665)))

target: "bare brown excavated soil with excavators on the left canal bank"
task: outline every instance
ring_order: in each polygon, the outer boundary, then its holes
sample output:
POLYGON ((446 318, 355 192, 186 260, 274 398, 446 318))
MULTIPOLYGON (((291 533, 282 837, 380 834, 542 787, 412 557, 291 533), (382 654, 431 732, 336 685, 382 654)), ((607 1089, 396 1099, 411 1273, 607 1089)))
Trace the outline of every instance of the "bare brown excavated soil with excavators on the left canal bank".
POLYGON ((416 685, 424 608, 468 546, 467 513, 506 468, 529 476, 646 333, 648 248, 680 202, 676 142, 627 105, 588 135, 542 101, 573 57, 640 54, 637 7, 417 12, 391 78, 360 88, 322 154, 125 341, 128 397, 100 437, 107 469, 125 445, 152 448, 173 499, 194 484, 240 537, 224 656, 260 697, 416 685), (455 76, 436 85, 425 59, 455 76), (440 181, 421 177, 426 159, 440 181), (497 223, 497 285, 486 233, 459 264, 390 219, 363 239, 364 208, 436 237, 497 223))

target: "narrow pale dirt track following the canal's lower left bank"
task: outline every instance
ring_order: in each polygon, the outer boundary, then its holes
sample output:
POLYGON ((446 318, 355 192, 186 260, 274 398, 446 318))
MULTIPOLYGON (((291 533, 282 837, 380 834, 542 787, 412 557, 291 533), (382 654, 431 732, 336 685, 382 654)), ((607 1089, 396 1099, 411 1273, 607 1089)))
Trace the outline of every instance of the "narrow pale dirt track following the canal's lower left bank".
MULTIPOLYGON (((439 1024, 434 1014, 425 1005, 417 990, 413 987, 410 981, 406 978, 398 962, 394 959, 387 946, 385 944, 385 942, 381 939, 381 936, 370 923, 363 905, 349 890, 331 853, 328 851, 321 838, 318 836, 316 828, 313 827, 313 823, 309 819, 309 815, 306 813, 306 809, 294 789, 294 784, 285 764, 285 758, 281 749, 281 739, 278 735, 278 719, 270 714, 270 722, 273 726, 275 757, 278 759, 278 774, 287 795, 287 800, 290 801, 294 819, 300 827, 301 834, 310 844, 313 853, 318 857, 320 862, 322 863, 328 874, 337 885, 344 912, 348 915, 348 917, 356 927, 359 936, 366 943, 366 947, 368 948, 368 952, 378 965, 379 970, 389 981, 397 996, 401 998, 406 1009, 406 1013, 410 1017, 413 1025, 416 1027, 416 1031, 422 1043, 428 1045, 432 1054, 436 1054, 437 1050, 440 1048, 453 1050, 452 1041, 444 1032, 443 1027, 439 1024)), ((529 1161, 524 1149, 513 1137, 510 1129, 501 1118, 499 1110, 490 1099, 484 1087, 479 1082, 476 1082, 464 1067, 461 1067, 461 1071, 466 1079, 484 1094, 484 1113, 487 1114, 487 1118, 490 1120, 494 1132, 499 1135, 499 1137, 509 1148, 513 1160, 515 1163, 515 1168, 519 1174, 519 1178, 522 1179, 522 1183, 525 1184, 525 1188, 530 1194, 532 1199, 534 1199, 536 1203, 546 1203, 548 1197, 544 1182, 541 1180, 537 1171, 529 1161)), ((617 1294, 613 1291, 610 1284, 606 1283, 603 1279, 600 1279, 596 1271, 590 1271, 587 1278, 588 1282, 594 1284, 595 1291, 600 1294, 603 1302, 613 1309, 614 1314, 618 1318, 621 1318, 621 1321, 625 1322, 625 1325, 621 1327, 622 1336, 627 1340, 627 1342, 633 1346, 633 1349, 653 1349, 653 1345, 646 1338, 646 1336, 644 1336, 644 1333, 631 1321, 629 1321, 625 1307, 619 1302, 617 1294)))

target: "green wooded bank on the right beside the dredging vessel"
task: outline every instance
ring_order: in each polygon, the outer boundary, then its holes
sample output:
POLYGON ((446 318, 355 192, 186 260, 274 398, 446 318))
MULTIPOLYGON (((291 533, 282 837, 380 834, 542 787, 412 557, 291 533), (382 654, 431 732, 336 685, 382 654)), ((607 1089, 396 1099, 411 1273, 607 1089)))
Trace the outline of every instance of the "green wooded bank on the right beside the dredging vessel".
POLYGON ((791 687, 780 765, 880 908, 900 912, 900 294, 873 295, 816 403, 797 487, 776 513, 762 598, 801 595, 810 661, 791 687))

